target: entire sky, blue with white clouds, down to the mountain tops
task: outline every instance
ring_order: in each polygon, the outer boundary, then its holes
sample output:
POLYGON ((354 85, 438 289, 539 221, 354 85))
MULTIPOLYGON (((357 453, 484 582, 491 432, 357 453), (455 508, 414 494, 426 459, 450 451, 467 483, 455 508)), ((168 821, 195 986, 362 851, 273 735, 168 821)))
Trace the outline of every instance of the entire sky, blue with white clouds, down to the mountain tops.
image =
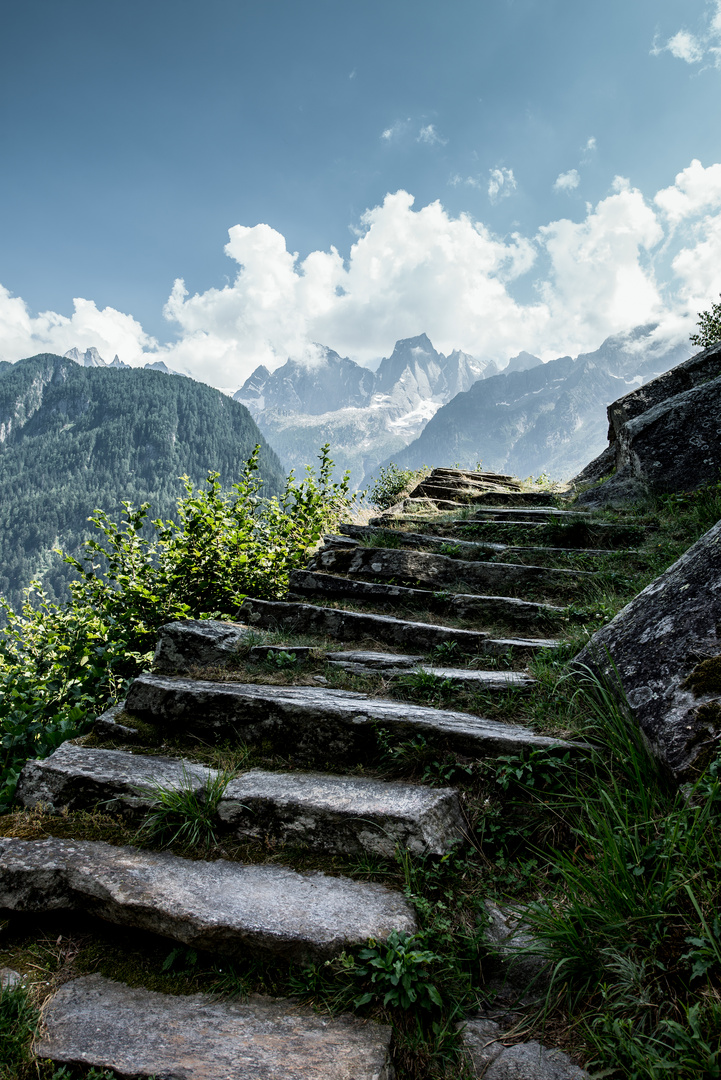
POLYGON ((237 386, 318 339, 688 334, 721 289, 720 10, 6 5, 0 357, 97 345, 237 386))

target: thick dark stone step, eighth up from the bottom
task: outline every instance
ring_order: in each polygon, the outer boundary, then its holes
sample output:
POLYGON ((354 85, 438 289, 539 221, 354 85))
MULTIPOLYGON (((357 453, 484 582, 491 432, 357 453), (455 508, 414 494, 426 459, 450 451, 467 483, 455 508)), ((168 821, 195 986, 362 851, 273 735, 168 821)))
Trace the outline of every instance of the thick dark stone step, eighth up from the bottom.
MULTIPOLYGON (((425 551, 399 548, 328 548, 318 551, 308 564, 309 570, 346 573, 359 578, 392 578, 435 589, 463 585, 474 590, 509 590, 523 585, 554 588, 573 585, 593 577, 589 570, 564 570, 519 563, 485 563, 425 551)), ((245 609, 242 609, 245 613, 245 609)))

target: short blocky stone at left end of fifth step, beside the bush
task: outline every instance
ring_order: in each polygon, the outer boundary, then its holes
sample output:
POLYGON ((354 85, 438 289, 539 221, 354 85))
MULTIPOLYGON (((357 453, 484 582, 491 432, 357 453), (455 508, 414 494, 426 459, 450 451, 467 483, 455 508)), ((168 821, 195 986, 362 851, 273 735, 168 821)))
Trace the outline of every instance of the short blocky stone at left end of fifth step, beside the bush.
POLYGON ((240 622, 217 619, 178 619, 160 627, 153 666, 159 672, 189 667, 226 667, 250 633, 240 622))

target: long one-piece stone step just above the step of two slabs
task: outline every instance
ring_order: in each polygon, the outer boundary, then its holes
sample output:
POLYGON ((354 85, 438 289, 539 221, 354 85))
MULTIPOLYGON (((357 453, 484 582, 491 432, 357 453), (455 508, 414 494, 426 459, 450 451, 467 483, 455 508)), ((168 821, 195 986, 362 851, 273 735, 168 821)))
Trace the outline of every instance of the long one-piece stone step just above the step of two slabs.
POLYGON ((176 735, 206 743, 267 743, 287 757, 324 768, 367 762, 376 753, 379 727, 397 739, 423 735, 433 745, 472 757, 570 745, 470 713, 314 686, 140 675, 130 686, 126 708, 176 735))

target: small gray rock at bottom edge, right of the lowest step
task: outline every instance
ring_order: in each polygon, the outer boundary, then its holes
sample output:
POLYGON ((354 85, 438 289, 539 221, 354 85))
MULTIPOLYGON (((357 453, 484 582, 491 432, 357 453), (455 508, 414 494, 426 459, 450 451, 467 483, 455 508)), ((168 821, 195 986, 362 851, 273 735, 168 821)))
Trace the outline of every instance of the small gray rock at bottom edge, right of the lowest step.
POLYGON ((560 1050, 540 1042, 503 1045, 503 1030, 491 1020, 474 1018, 462 1025, 461 1044, 473 1074, 484 1080, 588 1080, 560 1050))

